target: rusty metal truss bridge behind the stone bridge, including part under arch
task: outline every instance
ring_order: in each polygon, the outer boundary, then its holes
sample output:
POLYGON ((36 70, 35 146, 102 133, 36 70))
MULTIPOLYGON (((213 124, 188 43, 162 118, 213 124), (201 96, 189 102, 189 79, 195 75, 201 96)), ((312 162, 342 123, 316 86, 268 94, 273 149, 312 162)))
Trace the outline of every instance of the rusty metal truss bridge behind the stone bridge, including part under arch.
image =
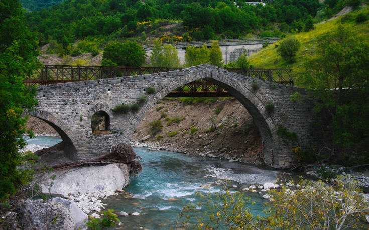
MULTIPOLYGON (((27 86, 49 85, 57 83, 98 80, 121 76, 135 76, 179 70, 182 68, 166 67, 106 67, 106 66, 69 66, 45 65, 38 69, 33 76, 24 79, 27 86)), ((236 69, 227 68, 244 76, 254 77, 278 84, 293 85, 292 69, 236 69)), ((205 80, 185 84, 171 93, 168 97, 227 97, 227 91, 205 80)))

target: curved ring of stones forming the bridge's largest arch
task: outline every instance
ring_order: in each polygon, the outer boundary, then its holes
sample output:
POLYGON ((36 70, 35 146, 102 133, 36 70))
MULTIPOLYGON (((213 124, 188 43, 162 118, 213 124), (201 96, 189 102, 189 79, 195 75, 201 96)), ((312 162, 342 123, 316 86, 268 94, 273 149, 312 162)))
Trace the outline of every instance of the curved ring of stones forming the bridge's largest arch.
MULTIPOLYGON (((211 69, 211 74, 209 71, 193 71, 187 75, 182 76, 176 81, 165 85, 162 89, 156 92, 154 95, 149 96, 148 101, 143 105, 140 111, 136 115, 138 123, 144 118, 148 111, 161 99, 166 97, 170 92, 176 88, 185 85, 187 83, 196 80, 206 80, 216 85, 219 85, 223 89, 227 90, 232 96, 234 96, 250 113, 256 126, 259 129, 261 138, 263 140, 263 158, 267 165, 273 165, 273 156, 270 150, 276 148, 275 138, 276 138, 276 125, 274 124, 272 118, 267 113, 266 107, 263 102, 253 93, 253 91, 240 82, 237 81, 236 77, 229 77, 226 80, 222 77, 225 73, 218 67, 209 65, 211 69), (215 70, 215 71, 214 71, 215 70), (213 73, 215 72, 215 73, 213 73), (268 151, 266 151, 268 150, 268 151)), ((228 71, 225 71, 228 72, 228 71)), ((235 74, 237 75, 237 74, 235 74)), ((242 76, 244 77, 244 76, 242 76)), ((251 84, 254 79, 250 78, 251 84)), ((261 81, 261 80, 256 80, 261 81)), ((137 125, 138 125, 137 123, 137 125)))

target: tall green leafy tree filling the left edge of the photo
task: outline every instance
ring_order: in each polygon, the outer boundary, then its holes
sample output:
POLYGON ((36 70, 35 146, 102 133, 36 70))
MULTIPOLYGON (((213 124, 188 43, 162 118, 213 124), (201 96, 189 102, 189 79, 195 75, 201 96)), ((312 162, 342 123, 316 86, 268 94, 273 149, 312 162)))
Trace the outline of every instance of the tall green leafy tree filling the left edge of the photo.
MULTIPOLYGON (((27 88, 23 79, 38 67, 38 43, 24 24, 24 10, 17 0, 0 1, 0 201, 28 182, 27 171, 17 168, 29 155, 19 152, 25 147, 27 118, 24 109, 37 101, 35 88, 27 88)), ((31 135, 32 133, 30 133, 31 135)))

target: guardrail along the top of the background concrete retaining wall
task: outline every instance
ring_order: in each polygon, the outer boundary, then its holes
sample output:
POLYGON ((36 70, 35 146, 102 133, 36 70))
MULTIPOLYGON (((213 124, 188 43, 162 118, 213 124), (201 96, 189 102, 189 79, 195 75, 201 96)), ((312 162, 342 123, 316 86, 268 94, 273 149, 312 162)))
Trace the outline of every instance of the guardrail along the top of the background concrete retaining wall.
MULTIPOLYGON (((185 48, 189 46, 200 47, 204 44, 211 45, 212 42, 218 41, 219 46, 227 45, 244 45, 244 44, 264 44, 264 43, 275 43, 279 41, 281 37, 267 37, 267 38, 247 38, 247 39, 220 39, 220 40, 206 40, 206 41, 189 41, 189 42, 174 42, 166 43, 176 48, 185 48)), ((144 50, 152 50, 154 45, 144 45, 144 50)))

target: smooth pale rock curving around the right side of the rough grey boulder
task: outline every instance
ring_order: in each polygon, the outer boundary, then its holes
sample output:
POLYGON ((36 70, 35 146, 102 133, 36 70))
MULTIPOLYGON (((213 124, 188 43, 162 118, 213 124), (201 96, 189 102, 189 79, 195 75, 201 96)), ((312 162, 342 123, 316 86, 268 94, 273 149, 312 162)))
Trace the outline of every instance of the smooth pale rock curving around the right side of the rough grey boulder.
POLYGON ((88 222, 88 216, 75 203, 60 197, 52 198, 50 201, 62 204, 70 212, 73 218, 75 230, 87 229, 85 221, 88 222))

